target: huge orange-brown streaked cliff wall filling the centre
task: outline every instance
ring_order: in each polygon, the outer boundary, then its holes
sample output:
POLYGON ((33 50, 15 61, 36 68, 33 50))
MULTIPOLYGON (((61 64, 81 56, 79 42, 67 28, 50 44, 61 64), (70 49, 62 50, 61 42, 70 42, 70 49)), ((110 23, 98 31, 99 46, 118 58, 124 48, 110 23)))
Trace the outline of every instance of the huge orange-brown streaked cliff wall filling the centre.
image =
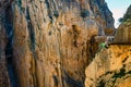
POLYGON ((94 36, 114 30, 105 0, 16 0, 7 10, 20 86, 84 87, 94 36))

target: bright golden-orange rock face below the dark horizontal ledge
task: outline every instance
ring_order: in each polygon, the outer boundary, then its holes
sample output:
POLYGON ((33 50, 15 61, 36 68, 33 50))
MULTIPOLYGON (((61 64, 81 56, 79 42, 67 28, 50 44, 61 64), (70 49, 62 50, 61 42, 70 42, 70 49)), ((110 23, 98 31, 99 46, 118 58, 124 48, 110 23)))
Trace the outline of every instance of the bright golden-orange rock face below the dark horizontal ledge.
POLYGON ((131 45, 110 45, 86 69, 85 87, 129 87, 131 45))

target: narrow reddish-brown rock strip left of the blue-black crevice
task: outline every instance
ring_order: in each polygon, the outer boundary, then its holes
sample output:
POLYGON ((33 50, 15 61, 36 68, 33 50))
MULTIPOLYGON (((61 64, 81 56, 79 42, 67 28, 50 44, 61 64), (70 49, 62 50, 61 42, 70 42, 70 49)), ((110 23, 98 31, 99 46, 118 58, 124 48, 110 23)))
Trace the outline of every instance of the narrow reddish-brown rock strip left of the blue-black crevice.
POLYGON ((0 9, 0 87, 10 87, 5 61, 7 35, 2 22, 3 11, 0 9))

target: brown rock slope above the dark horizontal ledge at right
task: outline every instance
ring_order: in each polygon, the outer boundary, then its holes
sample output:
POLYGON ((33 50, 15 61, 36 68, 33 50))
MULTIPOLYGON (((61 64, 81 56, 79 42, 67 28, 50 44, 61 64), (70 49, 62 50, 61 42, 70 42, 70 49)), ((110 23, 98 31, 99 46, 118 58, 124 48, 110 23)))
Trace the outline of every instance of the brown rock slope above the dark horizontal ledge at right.
POLYGON ((115 36, 115 42, 131 44, 131 5, 128 8, 121 25, 115 36))

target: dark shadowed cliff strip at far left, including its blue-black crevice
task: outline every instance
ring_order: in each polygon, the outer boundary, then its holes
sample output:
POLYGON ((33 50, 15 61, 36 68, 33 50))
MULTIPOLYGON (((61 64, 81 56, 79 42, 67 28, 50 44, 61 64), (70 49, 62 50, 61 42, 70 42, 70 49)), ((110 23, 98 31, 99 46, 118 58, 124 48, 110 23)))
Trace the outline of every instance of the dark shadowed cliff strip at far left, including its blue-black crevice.
MULTIPOLYGON (((12 1, 12 0, 11 0, 12 1)), ((0 0, 0 87, 17 87, 13 65, 11 1, 0 0)))

